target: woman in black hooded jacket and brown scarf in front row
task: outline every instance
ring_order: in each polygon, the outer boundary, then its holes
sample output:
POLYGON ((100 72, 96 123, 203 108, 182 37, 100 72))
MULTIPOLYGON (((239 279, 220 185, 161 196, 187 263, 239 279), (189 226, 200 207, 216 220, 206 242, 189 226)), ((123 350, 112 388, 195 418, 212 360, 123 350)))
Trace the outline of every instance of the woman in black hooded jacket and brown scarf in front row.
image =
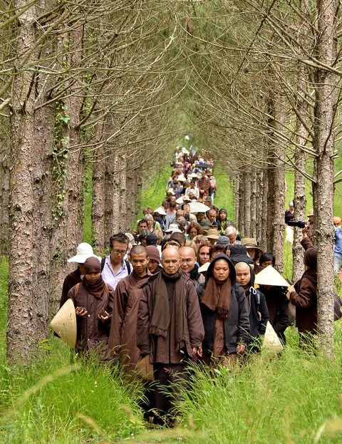
POLYGON ((248 344, 249 316, 246 297, 235 283, 235 269, 229 258, 217 254, 209 265, 200 299, 204 325, 203 360, 229 365, 248 344))

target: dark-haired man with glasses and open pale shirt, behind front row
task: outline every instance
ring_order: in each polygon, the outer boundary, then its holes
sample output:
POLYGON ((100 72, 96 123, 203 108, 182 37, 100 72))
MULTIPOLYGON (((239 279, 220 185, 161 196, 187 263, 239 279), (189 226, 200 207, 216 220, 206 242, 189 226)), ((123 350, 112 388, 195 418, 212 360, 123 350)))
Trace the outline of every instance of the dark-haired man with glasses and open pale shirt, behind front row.
POLYGON ((101 265, 103 280, 113 286, 113 289, 132 271, 130 263, 124 259, 129 242, 130 239, 123 233, 114 234, 109 239, 110 254, 103 259, 101 265))

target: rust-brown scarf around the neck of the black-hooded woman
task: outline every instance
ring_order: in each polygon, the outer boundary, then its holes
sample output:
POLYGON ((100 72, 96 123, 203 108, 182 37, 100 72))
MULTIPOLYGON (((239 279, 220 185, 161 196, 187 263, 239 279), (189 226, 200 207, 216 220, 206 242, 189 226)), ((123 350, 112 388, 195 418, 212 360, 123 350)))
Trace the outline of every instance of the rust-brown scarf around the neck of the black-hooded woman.
POLYGON ((214 277, 209 277, 202 294, 202 304, 206 305, 208 309, 216 311, 219 318, 227 319, 229 316, 231 288, 232 283, 229 277, 223 284, 217 284, 214 277))

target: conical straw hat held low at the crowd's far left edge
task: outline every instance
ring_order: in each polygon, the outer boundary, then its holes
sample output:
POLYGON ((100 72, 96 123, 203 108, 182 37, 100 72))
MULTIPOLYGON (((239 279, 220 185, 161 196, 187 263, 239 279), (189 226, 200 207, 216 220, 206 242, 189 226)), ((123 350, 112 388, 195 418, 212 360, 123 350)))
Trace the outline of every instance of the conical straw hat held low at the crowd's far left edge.
POLYGON ((53 329, 68 346, 71 346, 72 349, 75 348, 77 324, 75 306, 71 299, 68 299, 68 301, 61 306, 50 325, 51 329, 53 329))

